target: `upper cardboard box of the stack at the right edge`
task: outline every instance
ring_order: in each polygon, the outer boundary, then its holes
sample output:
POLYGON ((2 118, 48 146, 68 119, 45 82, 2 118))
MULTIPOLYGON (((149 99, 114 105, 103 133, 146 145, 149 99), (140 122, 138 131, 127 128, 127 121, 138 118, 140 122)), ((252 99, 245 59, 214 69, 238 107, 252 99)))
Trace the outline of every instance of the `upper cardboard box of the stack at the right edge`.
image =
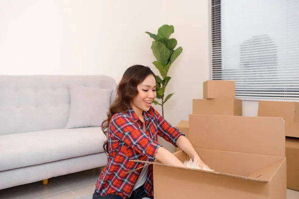
POLYGON ((286 136, 299 138, 299 102, 259 101, 258 116, 283 117, 286 136))

